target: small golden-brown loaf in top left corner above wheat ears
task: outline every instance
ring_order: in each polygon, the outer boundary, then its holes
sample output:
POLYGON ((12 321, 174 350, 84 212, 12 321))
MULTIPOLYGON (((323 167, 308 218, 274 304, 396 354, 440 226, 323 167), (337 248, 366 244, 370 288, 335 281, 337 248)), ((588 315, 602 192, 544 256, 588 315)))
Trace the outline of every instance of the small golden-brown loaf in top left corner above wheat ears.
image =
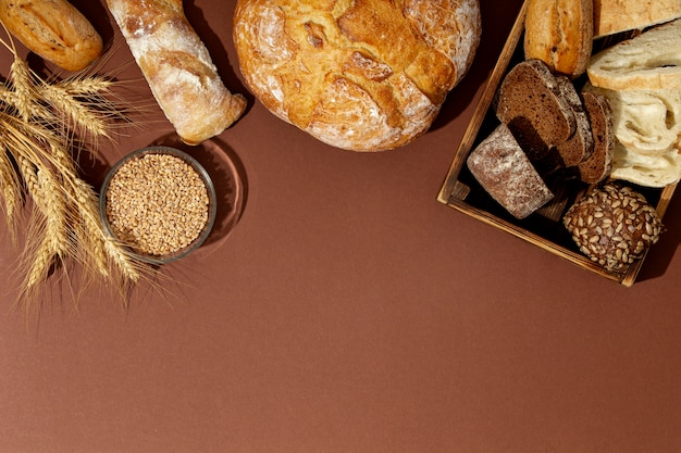
POLYGON ((0 21, 26 48, 66 71, 81 71, 102 52, 92 24, 66 0, 0 0, 0 21))

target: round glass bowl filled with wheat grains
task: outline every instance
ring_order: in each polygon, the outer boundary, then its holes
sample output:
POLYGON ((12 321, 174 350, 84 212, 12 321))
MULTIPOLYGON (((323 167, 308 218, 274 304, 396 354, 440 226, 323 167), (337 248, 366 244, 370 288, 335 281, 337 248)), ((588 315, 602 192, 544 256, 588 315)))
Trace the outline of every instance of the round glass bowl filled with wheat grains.
POLYGON ((187 153, 145 148, 116 163, 101 189, 108 231, 141 260, 163 264, 198 249, 215 218, 215 191, 187 153))

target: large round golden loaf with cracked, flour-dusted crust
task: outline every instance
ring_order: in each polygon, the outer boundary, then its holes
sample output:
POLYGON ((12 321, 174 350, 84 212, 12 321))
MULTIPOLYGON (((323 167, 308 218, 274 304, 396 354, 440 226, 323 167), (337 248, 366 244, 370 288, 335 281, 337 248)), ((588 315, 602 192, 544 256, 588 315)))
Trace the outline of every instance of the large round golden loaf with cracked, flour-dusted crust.
POLYGON ((480 37, 479 0, 238 0, 234 14, 251 92, 280 118, 354 151, 425 133, 480 37))

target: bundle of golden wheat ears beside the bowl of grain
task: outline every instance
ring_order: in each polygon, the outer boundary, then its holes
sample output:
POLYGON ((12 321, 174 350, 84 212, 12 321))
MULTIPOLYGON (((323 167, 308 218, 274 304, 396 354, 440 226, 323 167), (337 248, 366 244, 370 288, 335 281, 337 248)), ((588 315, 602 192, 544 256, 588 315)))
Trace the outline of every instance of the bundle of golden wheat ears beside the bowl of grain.
POLYGON ((49 277, 82 267, 83 281, 116 288, 137 282, 145 265, 104 231, 99 197, 86 183, 77 155, 126 122, 110 77, 90 72, 41 77, 0 39, 14 60, 0 84, 0 192, 10 236, 27 222, 20 255, 17 302, 40 298, 49 277))

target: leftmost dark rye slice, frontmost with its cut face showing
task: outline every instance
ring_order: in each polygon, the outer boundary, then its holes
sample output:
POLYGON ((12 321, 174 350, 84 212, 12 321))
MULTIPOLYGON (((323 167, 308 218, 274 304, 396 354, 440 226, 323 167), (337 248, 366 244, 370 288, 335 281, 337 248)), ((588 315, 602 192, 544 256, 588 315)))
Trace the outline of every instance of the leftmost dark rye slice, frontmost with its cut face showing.
POLYGON ((499 87, 496 116, 531 161, 538 161, 574 133, 574 113, 546 63, 525 60, 499 87))

